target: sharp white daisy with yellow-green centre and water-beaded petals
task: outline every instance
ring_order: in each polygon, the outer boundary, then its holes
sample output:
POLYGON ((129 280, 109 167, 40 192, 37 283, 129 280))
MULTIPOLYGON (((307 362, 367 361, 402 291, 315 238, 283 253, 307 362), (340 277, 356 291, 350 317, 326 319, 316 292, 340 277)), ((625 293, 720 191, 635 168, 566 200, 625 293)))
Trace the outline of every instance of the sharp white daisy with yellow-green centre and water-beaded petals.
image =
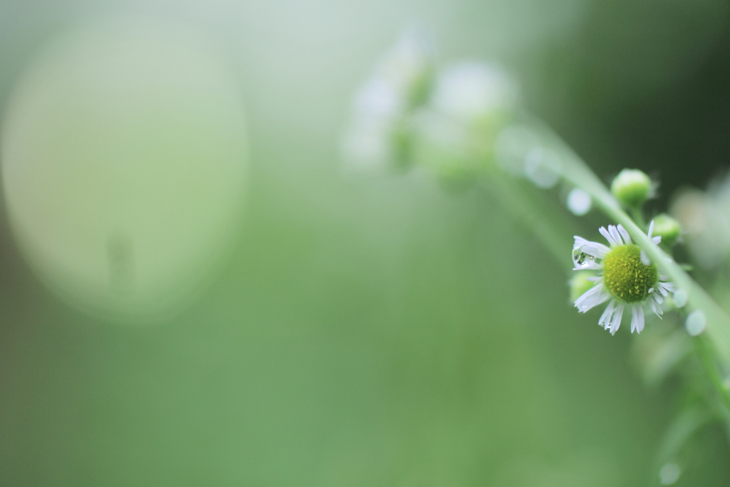
MULTIPOLYGON (((598 277, 589 278, 596 283, 575 300, 575 307, 586 312, 609 301, 599 325, 611 334, 621 326, 623 312, 628 307, 631 309, 631 333, 639 333, 644 329, 644 308, 650 307, 661 318, 661 303, 675 290, 675 285, 666 282, 666 277, 659 274, 644 250, 631 242, 629 232, 623 226, 609 225, 608 229, 601 227, 599 231, 610 246, 575 237, 573 270, 600 271, 598 277)), ((661 237, 652 237, 653 231, 654 222, 651 222, 648 236, 656 245, 661 237)))

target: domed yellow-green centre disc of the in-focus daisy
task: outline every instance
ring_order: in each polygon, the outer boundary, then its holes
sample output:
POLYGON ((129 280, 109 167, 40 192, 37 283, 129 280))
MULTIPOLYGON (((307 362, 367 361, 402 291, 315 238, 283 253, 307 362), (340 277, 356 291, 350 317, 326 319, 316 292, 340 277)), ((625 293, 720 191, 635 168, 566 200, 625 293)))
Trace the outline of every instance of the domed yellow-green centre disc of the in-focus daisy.
POLYGON ((639 245, 621 245, 603 259, 603 282, 617 299, 627 303, 643 301, 656 285, 658 272, 641 261, 639 245))

